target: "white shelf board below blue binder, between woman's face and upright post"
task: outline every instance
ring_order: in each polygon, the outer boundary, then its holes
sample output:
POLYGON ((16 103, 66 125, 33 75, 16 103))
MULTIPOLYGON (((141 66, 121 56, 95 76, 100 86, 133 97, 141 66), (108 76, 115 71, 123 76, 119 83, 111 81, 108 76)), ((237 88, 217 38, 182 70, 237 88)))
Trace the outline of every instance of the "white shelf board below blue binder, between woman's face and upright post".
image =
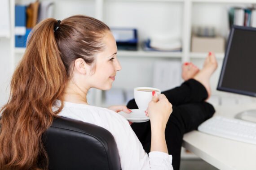
POLYGON ((161 51, 117 51, 119 57, 163 57, 181 58, 182 52, 161 52, 161 51))

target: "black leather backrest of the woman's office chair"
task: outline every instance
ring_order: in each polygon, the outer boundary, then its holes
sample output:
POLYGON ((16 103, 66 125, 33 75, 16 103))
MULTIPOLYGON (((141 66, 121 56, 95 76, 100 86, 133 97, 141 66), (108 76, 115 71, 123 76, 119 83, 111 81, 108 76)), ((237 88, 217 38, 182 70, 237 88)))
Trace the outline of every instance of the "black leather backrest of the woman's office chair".
POLYGON ((43 140, 49 170, 121 170, 113 135, 97 125, 59 117, 43 140))

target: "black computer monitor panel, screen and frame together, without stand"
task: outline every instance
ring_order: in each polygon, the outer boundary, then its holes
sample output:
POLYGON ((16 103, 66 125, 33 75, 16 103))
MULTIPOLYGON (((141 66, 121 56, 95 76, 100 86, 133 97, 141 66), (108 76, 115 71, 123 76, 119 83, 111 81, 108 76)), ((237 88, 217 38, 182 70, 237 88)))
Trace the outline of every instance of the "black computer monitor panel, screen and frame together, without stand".
POLYGON ((230 30, 217 90, 256 96, 256 28, 230 30))

